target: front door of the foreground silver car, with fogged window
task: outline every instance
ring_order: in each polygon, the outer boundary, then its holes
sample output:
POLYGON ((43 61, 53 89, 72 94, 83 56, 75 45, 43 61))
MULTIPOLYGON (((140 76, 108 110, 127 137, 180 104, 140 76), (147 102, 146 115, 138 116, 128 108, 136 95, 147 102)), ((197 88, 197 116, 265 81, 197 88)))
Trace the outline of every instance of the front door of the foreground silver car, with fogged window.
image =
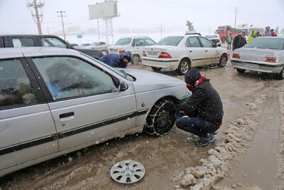
POLYGON ((114 83, 117 78, 100 63, 69 56, 32 58, 30 62, 43 79, 43 88, 48 88, 60 151, 102 142, 135 126, 131 83, 124 81, 128 89, 119 91, 114 83))

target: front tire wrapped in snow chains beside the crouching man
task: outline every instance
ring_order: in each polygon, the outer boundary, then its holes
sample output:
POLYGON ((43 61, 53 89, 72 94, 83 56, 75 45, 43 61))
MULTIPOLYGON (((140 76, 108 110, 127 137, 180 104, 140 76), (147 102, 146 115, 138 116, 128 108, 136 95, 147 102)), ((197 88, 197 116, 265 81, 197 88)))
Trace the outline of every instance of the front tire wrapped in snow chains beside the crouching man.
POLYGON ((175 110, 172 100, 163 99, 153 105, 147 119, 146 132, 155 136, 168 134, 175 124, 175 110))

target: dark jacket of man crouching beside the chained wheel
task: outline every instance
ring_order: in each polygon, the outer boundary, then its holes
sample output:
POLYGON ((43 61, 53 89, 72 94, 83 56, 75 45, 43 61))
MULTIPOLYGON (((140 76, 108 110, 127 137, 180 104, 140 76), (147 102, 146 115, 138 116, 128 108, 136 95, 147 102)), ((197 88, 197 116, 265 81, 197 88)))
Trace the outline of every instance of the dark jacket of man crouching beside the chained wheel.
MULTIPOLYGON (((190 80, 196 81, 200 78, 200 73, 197 71, 194 74, 193 78, 191 75, 190 80)), ((190 84, 186 77, 187 75, 185 75, 185 83, 190 84)), ((192 95, 187 97, 185 102, 180 103, 178 109, 185 112, 189 117, 198 114, 205 120, 214 123, 220 122, 224 115, 221 97, 209 81, 204 81, 194 87, 192 95)))

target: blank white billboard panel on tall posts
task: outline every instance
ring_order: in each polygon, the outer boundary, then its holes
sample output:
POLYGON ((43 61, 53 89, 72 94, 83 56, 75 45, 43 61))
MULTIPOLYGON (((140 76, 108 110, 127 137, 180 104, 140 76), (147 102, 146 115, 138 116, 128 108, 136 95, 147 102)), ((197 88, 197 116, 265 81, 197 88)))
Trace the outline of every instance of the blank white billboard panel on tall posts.
POLYGON ((117 16, 117 1, 89 5, 89 19, 110 19, 117 16))

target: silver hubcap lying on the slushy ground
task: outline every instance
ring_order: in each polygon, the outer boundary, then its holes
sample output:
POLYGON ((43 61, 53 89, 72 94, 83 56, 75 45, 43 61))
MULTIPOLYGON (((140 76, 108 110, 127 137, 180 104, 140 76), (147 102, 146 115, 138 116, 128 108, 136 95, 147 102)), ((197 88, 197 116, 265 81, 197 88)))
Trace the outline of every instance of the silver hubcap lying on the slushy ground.
POLYGON ((132 184, 145 175, 145 168, 139 162, 124 160, 111 167, 111 178, 121 184, 132 184))

